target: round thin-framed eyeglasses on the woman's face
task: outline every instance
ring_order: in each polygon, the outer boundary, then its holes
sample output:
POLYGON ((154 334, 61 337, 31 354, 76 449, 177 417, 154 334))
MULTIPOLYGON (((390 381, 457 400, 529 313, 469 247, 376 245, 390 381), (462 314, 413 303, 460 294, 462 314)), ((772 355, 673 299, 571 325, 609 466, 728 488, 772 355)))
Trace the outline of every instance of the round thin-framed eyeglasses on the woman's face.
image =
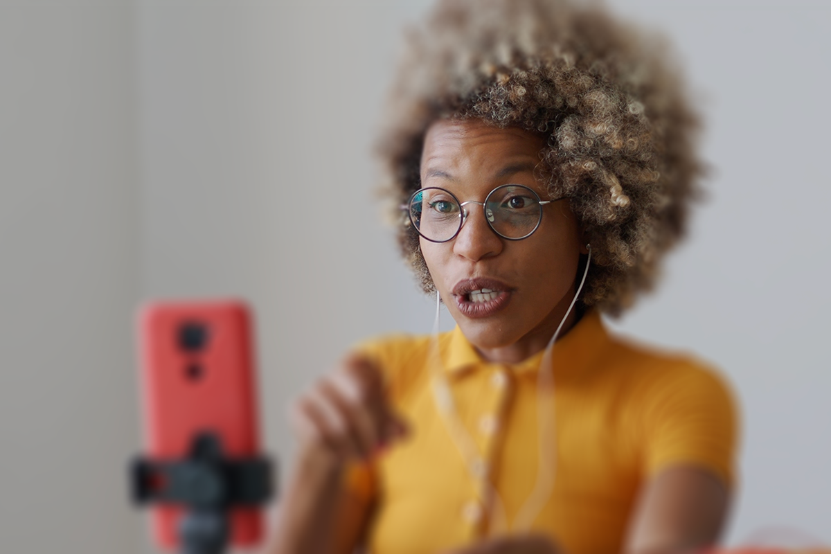
POLYGON ((494 233, 508 240, 528 238, 543 221, 543 205, 555 200, 540 200, 533 189, 523 184, 503 184, 490 191, 484 202, 460 202, 449 190, 438 187, 418 189, 401 208, 410 213, 410 223, 432 243, 446 243, 465 224, 468 204, 479 204, 485 221, 494 233))

